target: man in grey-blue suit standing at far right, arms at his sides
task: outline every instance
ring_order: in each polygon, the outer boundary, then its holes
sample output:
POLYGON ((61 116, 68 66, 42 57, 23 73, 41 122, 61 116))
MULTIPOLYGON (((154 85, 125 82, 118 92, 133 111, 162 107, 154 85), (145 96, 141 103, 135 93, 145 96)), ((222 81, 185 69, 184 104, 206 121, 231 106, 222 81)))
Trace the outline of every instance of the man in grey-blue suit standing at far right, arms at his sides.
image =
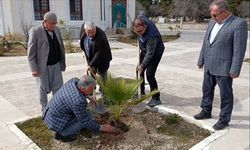
POLYGON ((209 22, 198 67, 204 67, 202 111, 195 119, 211 118, 214 88, 218 84, 221 112, 213 126, 221 130, 228 126, 233 110, 233 79, 238 78, 247 43, 247 22, 234 16, 226 0, 215 0, 210 6, 213 19, 209 22))

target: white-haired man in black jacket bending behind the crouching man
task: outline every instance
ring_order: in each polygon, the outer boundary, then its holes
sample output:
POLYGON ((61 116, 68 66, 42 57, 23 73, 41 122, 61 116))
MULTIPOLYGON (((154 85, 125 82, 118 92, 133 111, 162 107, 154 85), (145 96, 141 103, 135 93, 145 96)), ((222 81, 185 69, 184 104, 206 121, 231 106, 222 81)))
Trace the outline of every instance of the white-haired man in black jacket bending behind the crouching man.
POLYGON ((86 21, 81 27, 80 46, 85 53, 88 70, 105 80, 112 54, 104 31, 93 22, 86 21))

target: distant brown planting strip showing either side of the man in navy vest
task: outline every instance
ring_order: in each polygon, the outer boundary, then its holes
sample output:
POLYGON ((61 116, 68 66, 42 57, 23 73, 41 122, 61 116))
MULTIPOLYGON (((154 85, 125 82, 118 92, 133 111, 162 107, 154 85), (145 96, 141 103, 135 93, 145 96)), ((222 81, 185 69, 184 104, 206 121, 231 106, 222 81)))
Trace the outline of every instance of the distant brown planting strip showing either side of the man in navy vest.
MULTIPOLYGON (((163 42, 165 43, 165 42, 176 40, 180 36, 179 35, 162 35, 161 37, 162 37, 163 42)), ((117 41, 137 46, 137 39, 132 39, 130 37, 120 36, 117 38, 117 41)))

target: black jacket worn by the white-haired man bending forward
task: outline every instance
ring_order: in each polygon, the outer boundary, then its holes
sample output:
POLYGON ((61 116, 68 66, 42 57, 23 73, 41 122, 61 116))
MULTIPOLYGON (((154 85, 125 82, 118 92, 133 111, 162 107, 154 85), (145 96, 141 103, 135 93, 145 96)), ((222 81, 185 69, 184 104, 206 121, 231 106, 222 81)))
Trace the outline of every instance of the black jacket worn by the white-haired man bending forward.
POLYGON ((86 36, 84 24, 80 32, 80 46, 84 51, 88 65, 97 69, 97 72, 102 74, 109 68, 109 62, 112 60, 111 49, 105 32, 96 27, 96 35, 91 40, 91 53, 89 57, 86 55, 84 48, 84 37, 86 36))

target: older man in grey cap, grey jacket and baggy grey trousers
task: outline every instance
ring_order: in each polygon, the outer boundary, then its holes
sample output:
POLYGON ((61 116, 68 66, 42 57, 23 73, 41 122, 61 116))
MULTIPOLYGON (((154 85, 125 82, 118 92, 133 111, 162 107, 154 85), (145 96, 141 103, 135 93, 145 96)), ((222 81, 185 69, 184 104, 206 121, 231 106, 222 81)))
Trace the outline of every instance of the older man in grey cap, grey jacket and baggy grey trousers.
POLYGON ((65 52, 62 36, 56 27, 57 16, 47 12, 40 26, 30 30, 28 60, 32 76, 36 77, 42 110, 47 105, 47 94, 63 85, 62 71, 65 71, 65 52))

